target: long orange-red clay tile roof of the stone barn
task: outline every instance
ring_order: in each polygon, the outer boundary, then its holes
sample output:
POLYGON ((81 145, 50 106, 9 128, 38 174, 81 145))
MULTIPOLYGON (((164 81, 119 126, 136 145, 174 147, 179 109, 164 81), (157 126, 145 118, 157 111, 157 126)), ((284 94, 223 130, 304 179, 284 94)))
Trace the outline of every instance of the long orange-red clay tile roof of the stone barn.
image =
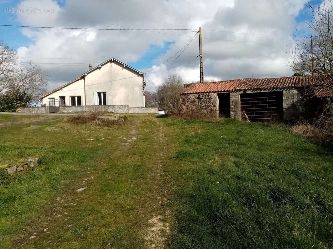
POLYGON ((211 83, 190 84, 184 89, 182 94, 300 88, 306 85, 312 85, 327 81, 330 81, 332 84, 332 74, 317 75, 313 78, 309 76, 292 76, 281 78, 225 80, 211 83))

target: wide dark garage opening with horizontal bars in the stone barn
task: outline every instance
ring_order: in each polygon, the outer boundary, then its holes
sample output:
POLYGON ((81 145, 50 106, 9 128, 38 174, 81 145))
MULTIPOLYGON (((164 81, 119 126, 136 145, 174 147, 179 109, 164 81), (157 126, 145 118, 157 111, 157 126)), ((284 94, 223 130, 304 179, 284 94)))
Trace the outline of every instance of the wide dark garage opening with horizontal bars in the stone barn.
POLYGON ((279 121, 283 118, 283 92, 240 94, 242 120, 279 121))

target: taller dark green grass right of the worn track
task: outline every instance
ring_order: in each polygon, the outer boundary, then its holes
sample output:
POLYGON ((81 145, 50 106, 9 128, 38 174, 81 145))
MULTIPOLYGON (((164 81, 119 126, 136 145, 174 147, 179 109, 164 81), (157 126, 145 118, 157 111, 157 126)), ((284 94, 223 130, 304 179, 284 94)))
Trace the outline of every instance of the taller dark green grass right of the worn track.
POLYGON ((282 127, 172 121, 172 248, 331 248, 331 152, 282 127))

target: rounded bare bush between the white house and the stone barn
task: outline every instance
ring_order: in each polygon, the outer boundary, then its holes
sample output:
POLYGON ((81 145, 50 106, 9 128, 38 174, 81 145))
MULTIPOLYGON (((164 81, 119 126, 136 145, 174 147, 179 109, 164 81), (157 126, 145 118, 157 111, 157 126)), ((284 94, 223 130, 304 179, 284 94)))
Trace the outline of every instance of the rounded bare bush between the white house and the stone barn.
POLYGON ((156 89, 156 102, 159 108, 171 115, 180 111, 180 94, 184 88, 184 80, 178 74, 169 75, 156 89))

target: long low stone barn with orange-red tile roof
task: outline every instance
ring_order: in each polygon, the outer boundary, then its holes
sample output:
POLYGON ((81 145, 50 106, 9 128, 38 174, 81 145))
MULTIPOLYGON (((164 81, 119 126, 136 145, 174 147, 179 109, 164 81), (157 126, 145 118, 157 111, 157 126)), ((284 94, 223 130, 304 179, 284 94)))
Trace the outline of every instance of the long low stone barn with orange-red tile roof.
MULTIPOLYGON (((332 84, 333 77, 293 76, 188 84, 180 95, 181 112, 247 121, 291 121, 307 112, 308 100, 302 98, 304 89, 327 80, 332 84)), ((323 98, 315 92, 310 99, 313 110, 323 103, 323 98)))

